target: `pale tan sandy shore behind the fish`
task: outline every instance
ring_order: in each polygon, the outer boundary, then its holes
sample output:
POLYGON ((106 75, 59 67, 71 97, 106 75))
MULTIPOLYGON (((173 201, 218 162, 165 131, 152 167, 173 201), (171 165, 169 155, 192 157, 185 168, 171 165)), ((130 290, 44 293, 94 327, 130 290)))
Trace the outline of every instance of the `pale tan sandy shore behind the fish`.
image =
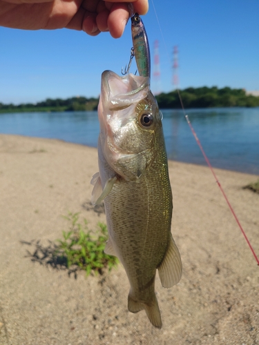
MULTIPOLYGON (((169 162, 172 233, 183 276, 173 288, 156 279, 161 330, 144 311, 127 311, 122 266, 77 279, 32 262, 21 241, 61 237, 90 206, 97 150, 62 141, 0 135, 0 344, 259 344, 259 267, 209 168, 169 162)), ((259 195, 242 186, 258 177, 215 170, 259 255, 259 195)))

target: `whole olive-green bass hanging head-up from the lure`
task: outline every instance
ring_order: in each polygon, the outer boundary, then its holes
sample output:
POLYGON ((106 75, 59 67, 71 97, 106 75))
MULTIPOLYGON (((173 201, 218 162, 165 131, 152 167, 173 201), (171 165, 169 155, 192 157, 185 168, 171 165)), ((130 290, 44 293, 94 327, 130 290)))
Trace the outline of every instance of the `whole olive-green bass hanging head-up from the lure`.
POLYGON ((149 77, 102 73, 98 105, 97 172, 92 203, 104 200, 108 242, 104 252, 124 266, 128 311, 146 311, 162 327, 155 295, 156 270, 164 288, 180 281, 182 262, 171 235, 173 197, 162 117, 149 77))

